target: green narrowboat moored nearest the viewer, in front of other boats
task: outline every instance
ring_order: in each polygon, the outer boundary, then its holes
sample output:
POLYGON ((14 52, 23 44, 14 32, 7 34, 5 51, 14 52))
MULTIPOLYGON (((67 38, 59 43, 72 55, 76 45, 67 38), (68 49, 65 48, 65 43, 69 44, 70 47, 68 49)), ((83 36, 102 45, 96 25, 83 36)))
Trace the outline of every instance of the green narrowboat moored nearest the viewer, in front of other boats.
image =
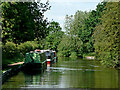
POLYGON ((30 51, 25 55, 24 70, 43 70, 47 68, 45 52, 30 51))

